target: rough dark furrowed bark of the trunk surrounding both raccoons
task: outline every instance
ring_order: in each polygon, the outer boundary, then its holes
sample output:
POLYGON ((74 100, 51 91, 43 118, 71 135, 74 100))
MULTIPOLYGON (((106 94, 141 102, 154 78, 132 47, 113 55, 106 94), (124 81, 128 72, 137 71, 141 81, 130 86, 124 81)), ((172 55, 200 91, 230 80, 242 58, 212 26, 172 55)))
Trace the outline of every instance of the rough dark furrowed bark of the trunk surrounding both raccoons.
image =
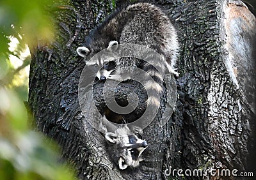
MULTIPOLYGON (((181 179, 177 174, 165 176, 164 170, 170 166, 207 169, 218 161, 222 169, 250 169, 247 159, 255 151, 256 25, 241 1, 154 1, 168 11, 179 31, 179 98, 164 128, 156 123, 163 107, 144 130, 150 147, 133 173, 118 170, 109 160, 104 137, 90 126, 90 117, 81 115, 77 99, 85 64, 76 48, 115 4, 108 0, 69 2, 50 11, 56 20, 56 40, 31 47, 29 107, 38 130, 60 144, 63 157, 74 165, 80 179, 181 179)), ((100 94, 102 85, 97 86, 100 94)), ((133 88, 134 84, 124 86, 133 88)), ((125 91, 119 92, 132 90, 125 91)), ((140 92, 139 96, 145 98, 140 92)))

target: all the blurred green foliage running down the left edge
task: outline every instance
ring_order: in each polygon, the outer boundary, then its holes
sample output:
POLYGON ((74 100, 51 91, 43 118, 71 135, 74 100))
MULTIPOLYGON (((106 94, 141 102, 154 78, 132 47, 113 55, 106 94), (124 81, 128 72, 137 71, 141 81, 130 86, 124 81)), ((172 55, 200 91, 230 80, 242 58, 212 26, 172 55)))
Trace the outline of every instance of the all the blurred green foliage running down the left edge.
POLYGON ((0 0, 0 179, 74 179, 52 142, 28 128, 28 71, 24 55, 52 40, 50 0, 0 0), (13 43, 15 42, 15 43, 13 43))

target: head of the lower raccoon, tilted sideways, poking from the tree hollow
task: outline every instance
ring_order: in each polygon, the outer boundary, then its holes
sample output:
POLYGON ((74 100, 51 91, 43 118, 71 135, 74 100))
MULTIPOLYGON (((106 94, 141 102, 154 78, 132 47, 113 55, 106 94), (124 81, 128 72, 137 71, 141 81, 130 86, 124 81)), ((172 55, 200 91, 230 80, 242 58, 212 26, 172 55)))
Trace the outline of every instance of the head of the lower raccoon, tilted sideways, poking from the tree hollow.
POLYGON ((115 133, 106 133, 106 140, 112 146, 110 156, 119 169, 124 170, 127 167, 138 167, 142 161, 141 153, 147 148, 145 140, 141 140, 137 135, 131 133, 127 126, 118 128, 115 133))

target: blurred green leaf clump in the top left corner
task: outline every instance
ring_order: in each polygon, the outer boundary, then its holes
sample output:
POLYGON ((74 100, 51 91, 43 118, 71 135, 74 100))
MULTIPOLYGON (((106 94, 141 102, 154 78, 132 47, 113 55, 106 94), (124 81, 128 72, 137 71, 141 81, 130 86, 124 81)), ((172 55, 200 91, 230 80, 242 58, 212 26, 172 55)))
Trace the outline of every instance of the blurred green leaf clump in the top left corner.
POLYGON ((52 1, 0 0, 0 4, 0 26, 4 27, 1 29, 4 36, 22 36, 26 43, 33 43, 35 38, 52 39, 51 18, 45 11, 52 1))

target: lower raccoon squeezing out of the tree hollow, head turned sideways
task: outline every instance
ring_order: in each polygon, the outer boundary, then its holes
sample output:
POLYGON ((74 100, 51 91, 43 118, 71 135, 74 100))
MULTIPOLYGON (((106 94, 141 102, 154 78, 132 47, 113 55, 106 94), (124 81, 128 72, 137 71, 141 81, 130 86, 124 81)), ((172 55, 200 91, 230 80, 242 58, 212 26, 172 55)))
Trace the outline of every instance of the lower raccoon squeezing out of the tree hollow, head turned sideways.
POLYGON ((124 124, 113 124, 108 121, 105 115, 102 116, 99 124, 108 142, 109 156, 119 169, 124 170, 127 167, 134 169, 143 160, 141 154, 148 147, 147 141, 140 138, 143 133, 140 127, 129 127, 122 116, 114 117, 124 124))

